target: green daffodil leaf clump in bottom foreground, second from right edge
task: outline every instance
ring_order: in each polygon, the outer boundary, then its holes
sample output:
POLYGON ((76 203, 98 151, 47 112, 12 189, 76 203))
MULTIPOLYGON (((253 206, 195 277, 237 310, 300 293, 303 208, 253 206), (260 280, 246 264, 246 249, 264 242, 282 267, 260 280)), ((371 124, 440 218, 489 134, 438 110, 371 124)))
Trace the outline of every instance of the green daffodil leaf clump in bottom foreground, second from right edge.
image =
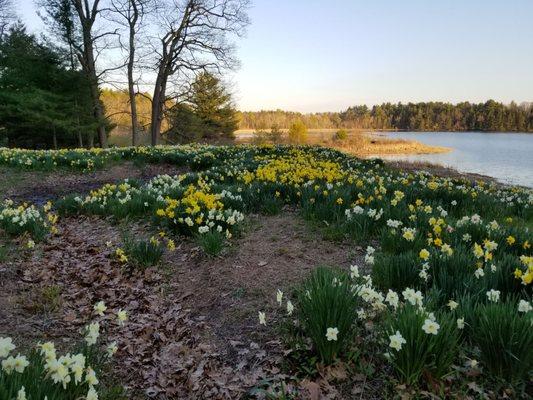
POLYGON ((424 331, 428 319, 425 311, 406 304, 391 313, 385 323, 389 359, 402 382, 408 385, 417 384, 422 375, 443 378, 458 354, 459 332, 455 318, 449 313, 438 314, 436 335, 424 331), (392 347, 393 336, 397 334, 405 341, 399 350, 392 347))

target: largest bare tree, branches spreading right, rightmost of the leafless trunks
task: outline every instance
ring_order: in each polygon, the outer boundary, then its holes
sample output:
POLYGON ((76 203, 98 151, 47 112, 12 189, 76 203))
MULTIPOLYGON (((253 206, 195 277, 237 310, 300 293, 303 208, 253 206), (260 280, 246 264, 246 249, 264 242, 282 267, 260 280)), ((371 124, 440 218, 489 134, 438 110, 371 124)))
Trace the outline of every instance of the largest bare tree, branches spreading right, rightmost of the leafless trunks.
POLYGON ((249 0, 167 0, 154 15, 161 35, 153 41, 157 61, 152 96, 151 142, 160 140, 169 79, 237 65, 229 36, 241 36, 249 23, 249 0))

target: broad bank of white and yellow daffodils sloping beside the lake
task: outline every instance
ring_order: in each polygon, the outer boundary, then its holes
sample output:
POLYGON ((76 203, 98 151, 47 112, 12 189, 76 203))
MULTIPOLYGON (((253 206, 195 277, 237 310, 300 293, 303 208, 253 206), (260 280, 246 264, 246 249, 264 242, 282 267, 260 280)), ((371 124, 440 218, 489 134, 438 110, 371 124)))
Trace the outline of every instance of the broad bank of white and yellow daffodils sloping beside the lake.
MULTIPOLYGON (((475 359, 491 379, 513 385, 531 379, 529 189, 406 173, 379 160, 318 147, 183 146, 80 154, 171 162, 191 172, 149 182, 126 180, 68 196, 55 204, 59 214, 150 218, 177 234, 219 232, 230 238, 247 214, 292 207, 332 238, 371 244, 365 256, 370 274, 363 276, 353 266, 312 286, 336 293, 349 285, 346 296, 356 294, 357 301, 348 317, 332 312, 315 321, 319 311, 302 311, 314 310, 307 295, 287 303, 287 312, 301 318, 301 327, 308 328, 304 334, 324 362, 342 359, 354 344, 354 332, 372 321, 386 349, 385 361, 407 384, 419 384, 423 377, 441 380, 463 363, 461 357, 475 359), (335 315, 351 319, 347 324, 335 315)), ((2 157, 9 160, 4 163, 19 163, 32 159, 32 153, 4 150, 2 157)), ((57 162, 66 156, 46 157, 57 162)), ((16 213, 27 213, 32 219, 31 207, 6 215, 13 221, 16 213)), ((333 310, 348 304, 331 296, 339 301, 331 303, 333 310)), ((268 314, 261 310, 260 316, 266 324, 268 314)))

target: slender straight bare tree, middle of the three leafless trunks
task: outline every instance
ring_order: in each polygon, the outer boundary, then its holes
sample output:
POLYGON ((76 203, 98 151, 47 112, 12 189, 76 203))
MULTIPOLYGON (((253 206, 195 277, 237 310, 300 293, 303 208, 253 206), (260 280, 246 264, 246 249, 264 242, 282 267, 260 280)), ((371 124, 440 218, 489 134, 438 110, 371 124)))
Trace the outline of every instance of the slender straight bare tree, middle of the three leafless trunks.
POLYGON ((137 146, 139 139, 140 124, 137 115, 137 101, 135 90, 136 79, 134 76, 136 64, 136 50, 138 45, 137 34, 141 28, 142 20, 146 12, 149 12, 151 0, 112 0, 112 15, 119 18, 112 18, 113 21, 124 25, 127 28, 127 44, 121 46, 126 51, 126 70, 128 78, 128 95, 131 110, 131 139, 132 145, 137 146))

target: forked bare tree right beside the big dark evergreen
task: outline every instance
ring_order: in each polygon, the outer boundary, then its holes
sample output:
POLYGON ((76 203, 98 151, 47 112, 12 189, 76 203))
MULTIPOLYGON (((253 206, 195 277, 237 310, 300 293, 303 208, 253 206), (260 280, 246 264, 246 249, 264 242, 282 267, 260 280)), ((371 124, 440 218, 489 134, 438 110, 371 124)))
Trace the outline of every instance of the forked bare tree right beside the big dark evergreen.
MULTIPOLYGON (((98 122, 98 140, 102 147, 107 147, 105 115, 100 100, 100 80, 109 69, 97 71, 96 63, 99 55, 109 48, 106 38, 116 35, 117 30, 96 30, 96 23, 100 19, 104 7, 101 0, 41 0, 40 5, 45 9, 49 18, 47 22, 53 24, 55 33, 69 46, 71 58, 80 63, 89 81, 93 113, 98 122), (98 44, 102 42, 99 46, 98 44)), ((74 64, 74 60, 71 62, 74 64)), ((118 69, 115 67, 111 69, 118 69)), ((93 138, 89 138, 92 146, 93 138)))

